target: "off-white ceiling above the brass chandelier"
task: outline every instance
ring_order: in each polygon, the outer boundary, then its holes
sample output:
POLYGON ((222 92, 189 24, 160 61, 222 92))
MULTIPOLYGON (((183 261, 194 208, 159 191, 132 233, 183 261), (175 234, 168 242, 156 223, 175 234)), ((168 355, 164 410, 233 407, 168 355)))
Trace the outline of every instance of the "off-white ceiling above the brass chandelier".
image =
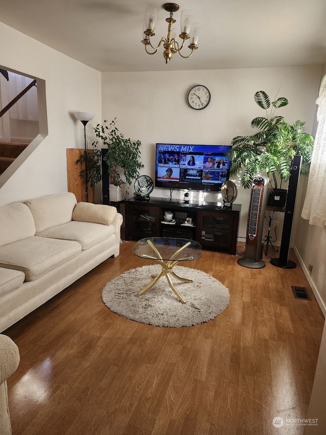
MULTIPOLYGON (((180 0, 181 2, 181 0, 180 0)), ((99 71, 165 71, 310 66, 326 63, 326 0, 183 0, 202 23, 198 50, 166 65, 164 48, 141 43, 145 9, 158 12, 157 44, 168 13, 157 0, 1 0, 0 21, 99 71)), ((185 48, 185 52, 189 52, 185 48)))

